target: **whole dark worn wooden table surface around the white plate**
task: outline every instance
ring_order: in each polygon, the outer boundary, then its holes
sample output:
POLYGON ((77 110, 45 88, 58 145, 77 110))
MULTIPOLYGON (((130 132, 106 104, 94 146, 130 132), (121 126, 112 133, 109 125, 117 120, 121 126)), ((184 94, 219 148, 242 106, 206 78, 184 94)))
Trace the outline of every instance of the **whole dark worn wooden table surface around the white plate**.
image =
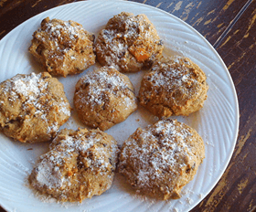
MULTIPOLYGON (((71 2, 76 1, 0 0, 0 39, 29 17, 71 2)), ((234 154, 219 183, 192 211, 256 211, 256 0, 134 2, 163 9, 194 26, 217 49, 237 90, 240 132, 234 154)))

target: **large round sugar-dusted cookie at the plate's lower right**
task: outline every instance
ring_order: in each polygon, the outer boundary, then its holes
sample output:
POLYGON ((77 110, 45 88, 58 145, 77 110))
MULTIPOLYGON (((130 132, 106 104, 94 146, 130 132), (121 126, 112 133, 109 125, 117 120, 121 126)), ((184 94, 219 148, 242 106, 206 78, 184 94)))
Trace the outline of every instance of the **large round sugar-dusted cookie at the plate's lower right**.
POLYGON ((204 143, 197 132, 167 119, 138 128, 123 143, 118 171, 137 192, 176 199, 204 157, 204 143))

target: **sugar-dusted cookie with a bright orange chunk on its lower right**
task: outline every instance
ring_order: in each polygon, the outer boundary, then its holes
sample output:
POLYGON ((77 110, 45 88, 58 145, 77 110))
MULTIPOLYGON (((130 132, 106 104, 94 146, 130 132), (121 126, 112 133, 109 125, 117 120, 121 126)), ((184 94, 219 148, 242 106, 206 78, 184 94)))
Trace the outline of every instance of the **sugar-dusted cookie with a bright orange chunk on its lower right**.
POLYGON ((136 72, 152 65, 163 48, 163 41, 147 16, 125 12, 109 20, 95 43, 101 65, 122 72, 136 72))

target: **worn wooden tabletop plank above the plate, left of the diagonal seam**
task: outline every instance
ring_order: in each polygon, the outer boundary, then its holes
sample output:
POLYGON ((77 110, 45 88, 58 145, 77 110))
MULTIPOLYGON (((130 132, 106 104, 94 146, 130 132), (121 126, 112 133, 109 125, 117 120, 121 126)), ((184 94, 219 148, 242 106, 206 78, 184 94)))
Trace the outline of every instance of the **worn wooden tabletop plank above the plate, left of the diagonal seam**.
POLYGON ((213 45, 247 0, 135 0, 153 5, 195 27, 213 45))

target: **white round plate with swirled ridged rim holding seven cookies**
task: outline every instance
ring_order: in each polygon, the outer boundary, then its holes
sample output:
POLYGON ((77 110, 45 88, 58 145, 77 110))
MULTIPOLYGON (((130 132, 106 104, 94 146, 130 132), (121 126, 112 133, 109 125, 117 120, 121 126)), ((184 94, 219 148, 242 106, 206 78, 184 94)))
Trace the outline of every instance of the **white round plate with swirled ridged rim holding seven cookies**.
MULTIPOLYGON (((178 200, 156 201, 136 196, 117 175, 112 188, 101 196, 93 196, 81 204, 43 202, 27 187, 26 179, 39 154, 47 151, 48 143, 18 143, 0 134, 0 204, 8 211, 188 211, 195 207, 219 181, 232 155, 239 125, 236 91, 229 71, 208 41, 180 19, 148 5, 127 1, 85 1, 62 5, 34 16, 17 26, 0 41, 0 81, 17 73, 38 72, 37 62, 28 54, 32 34, 43 18, 74 20, 97 35, 108 19, 123 11, 145 14, 154 23, 165 42, 165 55, 191 58, 208 76, 208 100, 202 110, 189 117, 175 117, 194 127, 206 143, 206 158, 197 175, 183 189, 178 200), (33 148, 33 150, 28 150, 33 148)), ((92 67, 91 69, 95 69, 92 67)), ((86 72, 86 71, 85 71, 86 72)), ((59 78, 72 104, 77 80, 85 74, 59 78)), ((144 72, 129 74, 135 90, 139 89, 144 72)), ((125 122, 113 126, 109 132, 118 143, 128 138, 138 126, 155 122, 149 112, 140 108, 125 122), (139 119, 139 121, 138 121, 139 119)), ((82 126, 73 111, 65 125, 76 129, 82 126)), ((83 126, 84 127, 84 126, 83 126)))

